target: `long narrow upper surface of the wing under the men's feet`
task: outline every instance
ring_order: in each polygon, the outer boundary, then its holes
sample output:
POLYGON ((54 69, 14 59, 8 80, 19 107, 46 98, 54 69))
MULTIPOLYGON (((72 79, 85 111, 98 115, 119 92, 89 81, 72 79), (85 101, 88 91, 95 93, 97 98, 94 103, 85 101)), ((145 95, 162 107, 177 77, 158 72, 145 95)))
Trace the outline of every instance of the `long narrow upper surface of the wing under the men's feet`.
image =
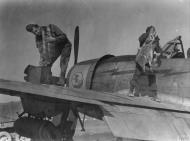
POLYGON ((29 94, 34 96, 97 104, 100 106, 125 105, 158 110, 172 110, 187 113, 190 112, 190 108, 188 106, 159 103, 144 98, 131 98, 128 96, 119 95, 118 93, 97 92, 55 85, 39 85, 29 82, 10 81, 3 79, 0 79, 0 93, 21 97, 29 94))

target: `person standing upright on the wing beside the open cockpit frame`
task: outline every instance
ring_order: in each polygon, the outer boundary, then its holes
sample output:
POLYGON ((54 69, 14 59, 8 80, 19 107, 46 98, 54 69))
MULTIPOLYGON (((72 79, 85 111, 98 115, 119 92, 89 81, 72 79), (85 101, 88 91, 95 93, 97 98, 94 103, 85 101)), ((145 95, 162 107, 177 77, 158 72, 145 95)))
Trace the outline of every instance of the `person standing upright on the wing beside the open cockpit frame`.
MULTIPOLYGON (((140 84, 139 80, 141 75, 145 71, 151 71, 151 65, 153 61, 154 51, 160 53, 161 48, 159 45, 159 37, 156 33, 156 29, 154 26, 149 26, 146 29, 146 33, 143 33, 139 37, 140 49, 136 55, 136 70, 133 75, 132 80, 130 81, 129 88, 129 96, 139 96, 140 93, 140 84), (135 93, 133 91, 135 90, 135 93)), ((148 76, 148 87, 153 83, 156 83, 155 75, 147 75, 148 76)), ((151 97, 156 97, 157 92, 152 92, 151 97)))

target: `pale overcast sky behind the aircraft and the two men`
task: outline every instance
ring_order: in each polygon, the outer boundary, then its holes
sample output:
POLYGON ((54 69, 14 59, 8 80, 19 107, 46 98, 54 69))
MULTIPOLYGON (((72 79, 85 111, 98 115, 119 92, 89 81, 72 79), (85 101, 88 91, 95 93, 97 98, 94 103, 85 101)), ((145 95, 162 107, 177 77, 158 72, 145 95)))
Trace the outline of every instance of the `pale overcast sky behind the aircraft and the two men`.
MULTIPOLYGON (((190 47, 190 0, 0 0, 0 78, 23 81, 24 68, 38 64, 34 36, 25 30, 29 23, 56 24, 72 43, 79 25, 79 61, 135 54, 149 25, 161 45, 182 35, 185 51, 190 47)), ((59 75, 59 60, 52 71, 59 75)), ((8 99, 0 96, 0 102, 8 99)))

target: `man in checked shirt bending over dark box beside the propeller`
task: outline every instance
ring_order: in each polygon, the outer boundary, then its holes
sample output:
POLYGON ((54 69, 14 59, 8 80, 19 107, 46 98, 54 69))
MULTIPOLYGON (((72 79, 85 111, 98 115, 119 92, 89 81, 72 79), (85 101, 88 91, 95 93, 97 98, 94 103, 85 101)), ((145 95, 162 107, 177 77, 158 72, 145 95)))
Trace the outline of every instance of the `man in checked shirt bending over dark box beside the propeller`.
POLYGON ((57 58, 61 56, 61 73, 58 84, 64 85, 72 46, 66 34, 53 24, 48 26, 28 24, 26 30, 35 35, 36 46, 40 53, 40 66, 52 67, 57 58))

